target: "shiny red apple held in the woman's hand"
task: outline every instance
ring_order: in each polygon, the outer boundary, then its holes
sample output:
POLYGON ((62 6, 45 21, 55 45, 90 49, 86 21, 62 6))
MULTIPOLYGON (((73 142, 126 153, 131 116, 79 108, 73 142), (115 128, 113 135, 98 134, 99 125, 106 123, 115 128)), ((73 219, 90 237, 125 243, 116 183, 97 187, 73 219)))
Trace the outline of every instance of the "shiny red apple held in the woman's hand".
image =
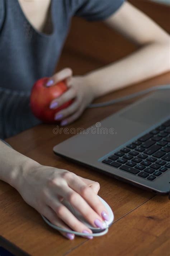
POLYGON ((30 95, 30 107, 31 110, 37 118, 45 123, 57 123, 54 120, 55 114, 63 108, 67 108, 72 100, 66 102, 61 107, 56 109, 50 109, 49 105, 53 99, 58 98, 61 94, 67 91, 67 86, 65 82, 59 82, 51 87, 46 86, 48 77, 39 79, 32 88, 30 95))

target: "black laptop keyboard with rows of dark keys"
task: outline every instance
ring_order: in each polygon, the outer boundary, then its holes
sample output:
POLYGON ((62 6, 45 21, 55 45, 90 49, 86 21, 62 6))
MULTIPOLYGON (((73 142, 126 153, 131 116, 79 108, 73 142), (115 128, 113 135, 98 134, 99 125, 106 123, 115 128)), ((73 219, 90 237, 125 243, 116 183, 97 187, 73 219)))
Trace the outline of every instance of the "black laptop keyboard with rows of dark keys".
POLYGON ((155 180, 170 169, 170 119, 102 163, 150 181, 155 180))

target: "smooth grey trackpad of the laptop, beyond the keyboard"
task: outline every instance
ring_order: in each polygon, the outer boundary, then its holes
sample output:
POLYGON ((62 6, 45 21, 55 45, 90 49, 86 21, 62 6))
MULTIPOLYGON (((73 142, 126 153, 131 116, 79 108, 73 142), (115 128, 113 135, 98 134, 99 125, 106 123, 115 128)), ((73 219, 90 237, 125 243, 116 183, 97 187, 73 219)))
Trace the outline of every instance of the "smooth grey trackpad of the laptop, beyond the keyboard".
POLYGON ((158 99, 149 99, 125 110, 121 117, 146 124, 154 124, 170 114, 170 103, 158 99))

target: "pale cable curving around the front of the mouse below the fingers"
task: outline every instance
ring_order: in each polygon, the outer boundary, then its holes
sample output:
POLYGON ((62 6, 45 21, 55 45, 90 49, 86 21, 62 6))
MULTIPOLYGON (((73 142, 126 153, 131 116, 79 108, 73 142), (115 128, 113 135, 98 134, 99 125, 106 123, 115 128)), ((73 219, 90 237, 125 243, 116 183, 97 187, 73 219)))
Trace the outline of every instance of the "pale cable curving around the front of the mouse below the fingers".
POLYGON ((56 229, 58 231, 61 231, 61 232, 65 232, 65 233, 71 233, 71 234, 75 234, 75 235, 81 235, 83 237, 88 237, 89 235, 92 236, 92 237, 100 237, 101 235, 105 235, 108 233, 108 228, 105 228, 103 231, 99 232, 99 233, 81 233, 81 232, 76 232, 76 231, 73 231, 73 230, 69 230, 69 229, 64 229, 64 228, 60 228, 56 225, 53 225, 49 220, 46 219, 46 217, 44 217, 43 215, 41 215, 43 220, 49 225, 51 226, 53 229, 56 229))

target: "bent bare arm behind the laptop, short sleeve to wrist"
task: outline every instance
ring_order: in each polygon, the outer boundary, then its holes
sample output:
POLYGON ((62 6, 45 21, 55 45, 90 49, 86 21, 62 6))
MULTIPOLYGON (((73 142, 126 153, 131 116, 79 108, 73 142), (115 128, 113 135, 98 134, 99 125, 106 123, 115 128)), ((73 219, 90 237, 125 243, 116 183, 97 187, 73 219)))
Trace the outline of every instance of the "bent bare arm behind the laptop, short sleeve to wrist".
POLYGON ((96 96, 169 71, 170 37, 144 13, 130 3, 124 3, 105 23, 141 48, 86 75, 96 96))

